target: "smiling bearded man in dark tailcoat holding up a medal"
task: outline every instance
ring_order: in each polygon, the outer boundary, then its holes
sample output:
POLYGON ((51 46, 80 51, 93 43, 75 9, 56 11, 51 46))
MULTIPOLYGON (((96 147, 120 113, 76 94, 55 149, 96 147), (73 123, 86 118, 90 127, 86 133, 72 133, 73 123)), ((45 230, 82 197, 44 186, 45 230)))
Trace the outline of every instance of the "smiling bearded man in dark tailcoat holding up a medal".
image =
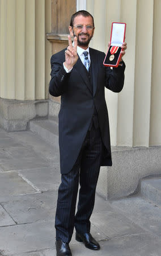
MULTIPOLYGON (((94 35, 94 18, 87 11, 71 16, 69 46, 51 58, 49 92, 61 95, 59 113, 60 167, 56 211, 57 256, 71 255, 69 242, 76 240, 88 249, 99 250, 90 233, 90 216, 100 166, 111 166, 111 144, 104 87, 120 92, 124 85, 124 61, 118 68, 104 67, 105 54, 88 47, 94 35), (78 185, 79 201, 75 214, 78 185)), ((122 55, 126 43, 122 44, 122 55)))

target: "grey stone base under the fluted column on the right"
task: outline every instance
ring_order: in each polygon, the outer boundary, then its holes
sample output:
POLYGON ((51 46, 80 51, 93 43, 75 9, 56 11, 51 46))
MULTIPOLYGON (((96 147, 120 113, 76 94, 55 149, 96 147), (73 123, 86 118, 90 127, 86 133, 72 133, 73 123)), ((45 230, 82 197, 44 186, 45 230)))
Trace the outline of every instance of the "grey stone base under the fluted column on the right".
POLYGON ((139 191, 143 177, 161 175, 161 146, 112 147, 112 167, 101 167, 97 192, 115 199, 139 191))

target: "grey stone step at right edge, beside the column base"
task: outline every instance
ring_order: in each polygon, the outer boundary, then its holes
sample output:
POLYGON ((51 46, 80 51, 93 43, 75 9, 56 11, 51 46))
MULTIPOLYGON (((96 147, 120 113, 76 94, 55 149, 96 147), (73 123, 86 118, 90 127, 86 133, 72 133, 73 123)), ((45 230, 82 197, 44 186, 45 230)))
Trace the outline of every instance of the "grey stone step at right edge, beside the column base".
POLYGON ((146 200, 161 205, 161 177, 148 177, 141 180, 141 195, 146 200))

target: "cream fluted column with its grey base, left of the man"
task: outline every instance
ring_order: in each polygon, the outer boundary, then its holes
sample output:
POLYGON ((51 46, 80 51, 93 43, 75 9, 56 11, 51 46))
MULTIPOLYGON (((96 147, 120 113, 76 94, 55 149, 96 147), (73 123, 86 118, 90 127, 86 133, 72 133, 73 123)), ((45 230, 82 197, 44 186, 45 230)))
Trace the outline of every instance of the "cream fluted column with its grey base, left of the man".
MULTIPOLYGON (((45 23, 51 24, 51 3, 0 1, 0 125, 8 131, 27 129, 29 119, 48 115, 45 23)), ((48 44, 48 62, 51 49, 48 44)))

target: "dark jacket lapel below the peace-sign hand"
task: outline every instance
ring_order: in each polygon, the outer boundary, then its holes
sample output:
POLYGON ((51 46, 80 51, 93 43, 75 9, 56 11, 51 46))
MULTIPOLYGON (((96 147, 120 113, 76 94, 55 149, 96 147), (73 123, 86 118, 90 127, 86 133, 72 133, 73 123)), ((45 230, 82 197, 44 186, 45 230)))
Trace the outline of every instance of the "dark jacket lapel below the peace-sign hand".
POLYGON ((77 70, 79 75, 81 75, 81 77, 82 77, 83 81, 85 82, 87 88, 92 93, 90 81, 88 79, 88 73, 87 73, 86 68, 84 67, 81 59, 79 58, 79 56, 78 56, 77 63, 74 65, 74 68, 77 70))

